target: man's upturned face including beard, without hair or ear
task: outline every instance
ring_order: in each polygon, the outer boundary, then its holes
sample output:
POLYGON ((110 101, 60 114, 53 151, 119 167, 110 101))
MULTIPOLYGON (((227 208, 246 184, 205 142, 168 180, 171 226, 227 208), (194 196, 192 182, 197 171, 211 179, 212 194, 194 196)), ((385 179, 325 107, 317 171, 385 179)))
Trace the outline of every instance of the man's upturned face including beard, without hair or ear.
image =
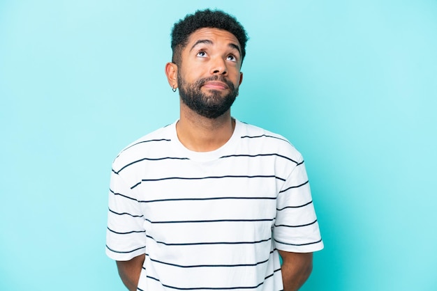
POLYGON ((206 118, 227 112, 242 82, 241 48, 221 29, 198 29, 188 38, 178 66, 179 95, 186 106, 206 118))

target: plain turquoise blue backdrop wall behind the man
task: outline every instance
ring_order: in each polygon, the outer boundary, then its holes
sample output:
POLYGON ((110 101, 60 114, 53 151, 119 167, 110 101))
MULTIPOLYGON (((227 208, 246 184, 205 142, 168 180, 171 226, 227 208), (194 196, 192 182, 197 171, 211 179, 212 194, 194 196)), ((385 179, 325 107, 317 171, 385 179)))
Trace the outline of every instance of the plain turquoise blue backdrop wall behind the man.
POLYGON ((306 159, 325 241, 302 290, 437 290, 437 1, 0 0, 0 290, 124 290, 112 159, 176 120, 170 29, 251 39, 232 109, 306 159))

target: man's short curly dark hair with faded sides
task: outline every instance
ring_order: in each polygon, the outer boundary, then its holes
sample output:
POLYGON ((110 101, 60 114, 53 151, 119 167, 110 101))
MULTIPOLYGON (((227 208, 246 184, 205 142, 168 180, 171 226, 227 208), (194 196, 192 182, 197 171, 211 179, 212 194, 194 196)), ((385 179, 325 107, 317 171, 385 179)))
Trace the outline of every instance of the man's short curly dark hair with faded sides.
POLYGON ((246 55, 246 42, 249 39, 242 24, 235 17, 221 10, 197 10, 194 14, 179 19, 172 29, 172 62, 179 64, 182 50, 188 43, 191 33, 203 28, 223 29, 232 33, 242 46, 242 63, 246 55))

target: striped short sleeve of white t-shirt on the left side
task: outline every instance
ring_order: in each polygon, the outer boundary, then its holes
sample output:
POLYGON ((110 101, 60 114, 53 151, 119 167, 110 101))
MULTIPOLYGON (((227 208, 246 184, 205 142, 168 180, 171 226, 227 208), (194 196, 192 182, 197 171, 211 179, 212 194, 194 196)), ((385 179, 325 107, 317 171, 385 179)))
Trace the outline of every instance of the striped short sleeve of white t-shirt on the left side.
POLYGON ((106 254, 113 260, 130 260, 145 253, 144 216, 135 191, 112 171, 108 199, 106 254))

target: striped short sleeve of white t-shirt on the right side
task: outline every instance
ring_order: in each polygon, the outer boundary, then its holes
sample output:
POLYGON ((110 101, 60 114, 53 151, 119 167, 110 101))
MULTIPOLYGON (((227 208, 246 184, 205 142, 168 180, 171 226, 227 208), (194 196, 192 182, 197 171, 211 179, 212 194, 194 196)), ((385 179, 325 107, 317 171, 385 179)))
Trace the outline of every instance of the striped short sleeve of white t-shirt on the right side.
POLYGON ((279 191, 273 237, 281 251, 309 253, 323 249, 303 158, 279 191))

